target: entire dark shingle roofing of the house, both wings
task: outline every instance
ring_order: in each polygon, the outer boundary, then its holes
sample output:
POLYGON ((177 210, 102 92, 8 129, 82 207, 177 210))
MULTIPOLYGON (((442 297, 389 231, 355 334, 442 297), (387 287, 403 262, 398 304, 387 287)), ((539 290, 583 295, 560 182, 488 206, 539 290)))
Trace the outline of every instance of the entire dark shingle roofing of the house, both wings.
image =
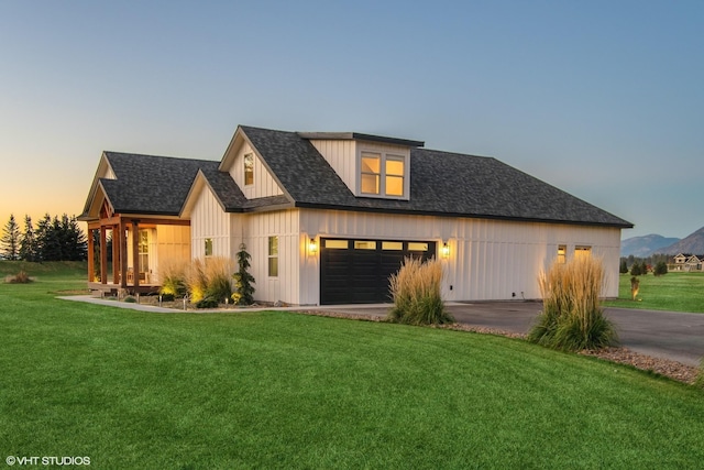
POLYGON ((410 199, 355 197, 308 139, 296 132, 240 127, 284 190, 246 199, 220 162, 105 152, 117 179, 100 184, 117 212, 177 216, 198 172, 226 211, 297 206, 452 217, 632 225, 496 159, 410 150, 410 199))

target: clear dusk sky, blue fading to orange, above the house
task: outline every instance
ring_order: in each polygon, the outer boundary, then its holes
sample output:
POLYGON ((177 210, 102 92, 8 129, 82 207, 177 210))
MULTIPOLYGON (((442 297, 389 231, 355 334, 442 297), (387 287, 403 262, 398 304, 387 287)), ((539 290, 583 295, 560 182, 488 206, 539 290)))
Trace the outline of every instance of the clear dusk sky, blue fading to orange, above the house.
POLYGON ((702 1, 0 0, 0 223, 79 215, 103 150, 238 124, 495 156, 636 225, 704 226, 702 1))

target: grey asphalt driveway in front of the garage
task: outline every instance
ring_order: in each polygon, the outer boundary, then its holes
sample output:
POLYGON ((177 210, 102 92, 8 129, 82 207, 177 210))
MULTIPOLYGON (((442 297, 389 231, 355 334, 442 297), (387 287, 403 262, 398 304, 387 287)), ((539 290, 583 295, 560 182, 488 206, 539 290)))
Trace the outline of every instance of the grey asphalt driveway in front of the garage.
MULTIPOLYGON (((539 302, 448 303, 458 323, 526 334, 542 308, 539 302)), ((342 313, 384 316, 388 305, 337 306, 342 313)), ((704 357, 704 314, 606 308, 622 346, 631 351, 698 365, 704 357)))

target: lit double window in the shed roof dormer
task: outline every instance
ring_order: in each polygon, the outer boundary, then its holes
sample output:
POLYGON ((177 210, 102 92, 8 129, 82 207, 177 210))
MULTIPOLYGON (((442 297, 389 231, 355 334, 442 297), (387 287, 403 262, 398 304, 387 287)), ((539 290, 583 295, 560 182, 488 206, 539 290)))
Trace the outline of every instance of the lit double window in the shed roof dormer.
POLYGON ((362 152, 360 193, 370 196, 406 196, 406 157, 362 152))

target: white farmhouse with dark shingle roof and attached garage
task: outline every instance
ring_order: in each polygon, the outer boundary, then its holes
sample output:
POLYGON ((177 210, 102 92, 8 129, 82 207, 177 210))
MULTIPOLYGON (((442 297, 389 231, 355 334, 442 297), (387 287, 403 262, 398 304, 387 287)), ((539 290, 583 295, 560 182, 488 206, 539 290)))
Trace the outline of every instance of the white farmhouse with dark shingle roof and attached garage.
POLYGON ((597 255, 616 297, 632 227, 492 157, 244 125, 220 162, 105 152, 81 220, 100 231, 94 288, 150 288, 164 260, 234 258, 244 243, 255 298, 294 305, 388 302, 407 255, 442 261, 448 300, 538 298, 554 260, 597 255))

